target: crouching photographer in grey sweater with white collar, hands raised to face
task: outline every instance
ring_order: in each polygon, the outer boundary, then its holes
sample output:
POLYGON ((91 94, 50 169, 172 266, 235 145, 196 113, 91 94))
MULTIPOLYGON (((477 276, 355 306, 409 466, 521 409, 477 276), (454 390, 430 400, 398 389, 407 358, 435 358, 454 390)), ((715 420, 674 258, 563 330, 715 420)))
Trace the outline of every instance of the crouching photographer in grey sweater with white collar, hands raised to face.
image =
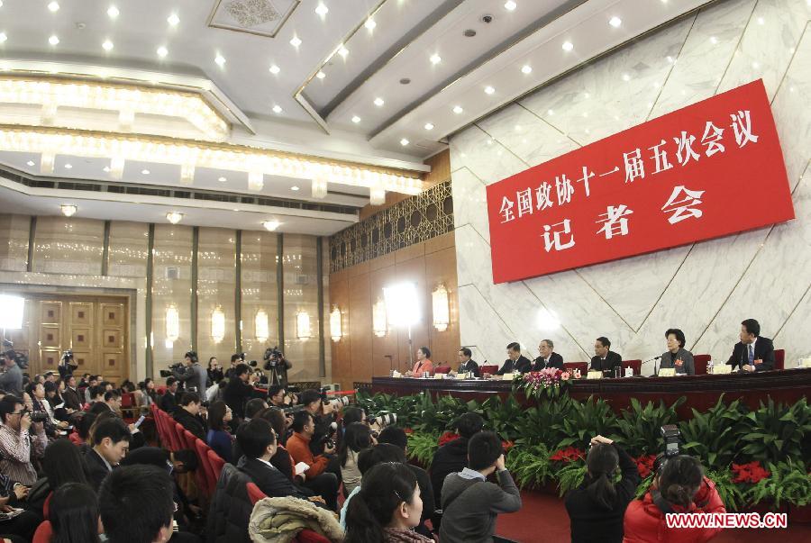
POLYGON ((442 485, 442 543, 497 541, 498 513, 521 509, 521 494, 504 466, 501 439, 479 432, 468 443, 469 466, 445 477, 442 485), (496 473, 498 484, 488 483, 496 473))

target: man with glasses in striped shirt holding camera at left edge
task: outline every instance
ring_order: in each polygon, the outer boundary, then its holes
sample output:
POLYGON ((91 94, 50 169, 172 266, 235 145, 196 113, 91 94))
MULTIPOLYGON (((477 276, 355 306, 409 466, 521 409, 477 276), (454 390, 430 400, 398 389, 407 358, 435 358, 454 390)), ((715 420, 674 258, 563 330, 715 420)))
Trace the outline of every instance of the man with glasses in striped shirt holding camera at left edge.
POLYGON ((32 422, 23 400, 11 394, 0 400, 0 422, 0 472, 31 486, 37 481, 31 458, 43 457, 48 445, 45 428, 41 422, 32 422))

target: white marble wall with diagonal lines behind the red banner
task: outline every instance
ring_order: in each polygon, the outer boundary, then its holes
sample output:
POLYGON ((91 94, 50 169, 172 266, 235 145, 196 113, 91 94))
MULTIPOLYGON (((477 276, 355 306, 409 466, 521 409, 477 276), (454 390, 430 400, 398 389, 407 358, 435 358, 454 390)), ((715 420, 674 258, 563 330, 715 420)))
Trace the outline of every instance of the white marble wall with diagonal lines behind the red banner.
MULTIPOLYGON (((687 348, 729 357, 740 322, 811 354, 811 3, 721 0, 508 105, 451 139, 461 343, 504 360, 541 339, 586 360, 605 335, 624 358, 687 348), (572 149, 762 78, 788 168, 797 219, 634 258, 493 285, 485 186, 572 149), (804 328, 805 327, 805 328, 804 328), (805 332, 804 332, 805 330, 805 332)), ((747 187, 742 187, 746 190, 747 187)), ((754 194, 753 194, 754 197, 754 194)), ((520 258, 520 256, 518 257, 520 258)), ((644 367, 650 374, 652 366, 644 367)))

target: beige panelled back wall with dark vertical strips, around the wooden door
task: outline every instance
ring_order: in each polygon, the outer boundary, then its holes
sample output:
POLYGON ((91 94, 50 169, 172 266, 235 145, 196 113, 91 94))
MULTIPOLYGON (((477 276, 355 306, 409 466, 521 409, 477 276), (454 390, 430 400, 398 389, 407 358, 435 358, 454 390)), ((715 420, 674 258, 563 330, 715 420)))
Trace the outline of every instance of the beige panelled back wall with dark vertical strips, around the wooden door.
MULTIPOLYGON (((192 339, 194 229, 190 226, 157 224, 154 233, 152 288, 146 292, 149 254, 149 225, 140 222, 111 222, 104 272, 105 222, 77 217, 42 216, 36 221, 32 263, 28 266, 31 217, 0 213, 0 292, 60 292, 74 294, 132 294, 131 377, 146 375, 149 348, 146 307, 151 303, 151 345, 153 375, 177 362, 195 343, 192 339), (167 270, 177 267, 179 277, 169 279, 167 270), (179 337, 166 338, 166 309, 178 308, 179 337)), ((197 238, 197 330, 196 349, 205 363, 218 357, 227 364, 237 350, 236 286, 237 232, 200 228, 197 238), (214 309, 225 313, 225 335, 211 337, 214 309)), ((278 344, 278 235, 270 232, 241 232, 241 333, 242 350, 248 359, 260 362, 266 347, 278 344), (269 339, 255 336, 254 318, 260 310, 269 317, 269 339)), ((326 244, 325 244, 326 245, 326 244)), ((321 376, 317 304, 317 239, 312 236, 284 236, 285 344, 280 346, 293 362, 291 380, 329 382, 329 330, 325 327, 326 376, 321 376), (313 335, 296 337, 296 312, 310 315, 313 335)), ((324 252, 324 256, 326 253, 324 252)), ((325 266, 328 261, 325 261, 325 266)), ((324 305, 329 300, 328 276, 324 276, 324 305)), ((325 307, 325 312, 328 311, 325 307)))

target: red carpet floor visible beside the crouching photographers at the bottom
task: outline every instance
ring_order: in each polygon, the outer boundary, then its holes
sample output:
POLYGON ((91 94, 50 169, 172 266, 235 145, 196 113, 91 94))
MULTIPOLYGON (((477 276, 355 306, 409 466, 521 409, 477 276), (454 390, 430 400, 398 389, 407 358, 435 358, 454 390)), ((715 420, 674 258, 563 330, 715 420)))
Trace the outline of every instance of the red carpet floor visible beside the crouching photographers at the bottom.
MULTIPOLYGON (((522 492, 521 511, 499 515, 496 534, 521 543, 536 541, 570 541, 569 515, 563 500, 555 495, 522 492)), ((713 543, 807 543, 811 541, 811 524, 792 524, 788 529, 729 529, 713 539, 713 543)))

